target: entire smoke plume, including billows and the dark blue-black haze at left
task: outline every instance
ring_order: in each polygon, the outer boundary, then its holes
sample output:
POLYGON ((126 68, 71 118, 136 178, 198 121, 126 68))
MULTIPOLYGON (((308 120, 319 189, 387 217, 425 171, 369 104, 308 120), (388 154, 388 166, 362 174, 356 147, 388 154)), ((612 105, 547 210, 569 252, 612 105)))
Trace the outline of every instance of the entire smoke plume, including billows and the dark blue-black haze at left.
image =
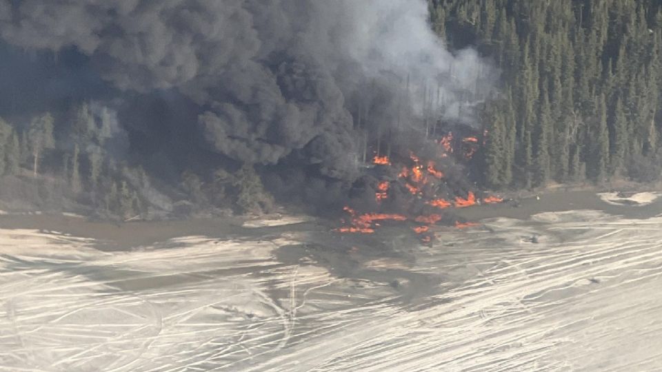
POLYGON ((161 175, 294 168, 281 183, 329 198, 361 176, 365 143, 409 148, 423 115, 470 121, 458 107, 494 75, 473 50, 445 48, 423 0, 0 0, 0 37, 41 71, 1 79, 51 83, 48 99, 17 90, 26 99, 0 114, 97 99, 119 110, 130 156, 161 175))

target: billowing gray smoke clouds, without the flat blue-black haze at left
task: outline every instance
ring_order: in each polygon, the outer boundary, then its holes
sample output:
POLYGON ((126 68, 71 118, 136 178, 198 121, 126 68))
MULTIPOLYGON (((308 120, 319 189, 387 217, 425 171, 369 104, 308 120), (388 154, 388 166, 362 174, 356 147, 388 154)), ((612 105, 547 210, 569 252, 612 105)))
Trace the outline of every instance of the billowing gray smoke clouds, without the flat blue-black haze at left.
POLYGON ((199 106, 181 125, 237 161, 297 151, 341 179, 359 132, 461 119, 477 99, 461 92, 486 90, 477 54, 445 50, 427 19, 424 0, 0 0, 4 41, 77 48, 120 90, 177 90, 199 106))

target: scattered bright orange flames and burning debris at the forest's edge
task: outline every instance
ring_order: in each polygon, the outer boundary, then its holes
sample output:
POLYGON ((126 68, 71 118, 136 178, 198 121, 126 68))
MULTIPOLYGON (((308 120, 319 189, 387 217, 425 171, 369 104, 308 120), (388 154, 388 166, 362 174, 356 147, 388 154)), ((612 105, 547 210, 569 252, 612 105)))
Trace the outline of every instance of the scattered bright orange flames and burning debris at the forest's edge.
POLYGON ((374 204, 362 209, 345 205, 340 233, 374 234, 384 223, 408 223, 422 242, 434 239, 435 225, 450 225, 458 229, 477 226, 477 223, 444 216, 444 209, 473 205, 495 204, 503 198, 472 190, 465 185, 448 182, 444 167, 471 165, 474 155, 488 136, 487 131, 476 134, 465 125, 457 126, 459 134, 449 130, 434 141, 434 153, 423 160, 414 152, 408 156, 374 152, 372 161, 363 164, 370 180, 355 185, 356 194, 374 192, 374 204), (463 189, 466 187, 466 189, 463 189))

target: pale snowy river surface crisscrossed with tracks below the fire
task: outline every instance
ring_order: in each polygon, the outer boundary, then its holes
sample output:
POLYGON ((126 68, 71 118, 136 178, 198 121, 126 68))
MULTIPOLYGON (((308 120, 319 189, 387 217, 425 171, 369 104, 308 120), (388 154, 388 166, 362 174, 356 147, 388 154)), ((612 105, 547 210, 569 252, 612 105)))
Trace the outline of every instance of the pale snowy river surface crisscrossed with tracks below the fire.
POLYGON ((0 370, 662 369, 662 218, 572 211, 449 229, 407 260, 364 262, 397 285, 337 276, 340 253, 280 262, 305 233, 279 234, 103 252, 0 230, 0 370))

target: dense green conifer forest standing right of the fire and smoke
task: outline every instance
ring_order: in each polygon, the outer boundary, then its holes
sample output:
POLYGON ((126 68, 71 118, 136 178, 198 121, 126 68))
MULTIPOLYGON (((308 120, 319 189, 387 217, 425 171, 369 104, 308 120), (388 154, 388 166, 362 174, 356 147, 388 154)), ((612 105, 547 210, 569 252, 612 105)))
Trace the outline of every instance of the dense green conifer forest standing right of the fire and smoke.
POLYGON ((660 1, 430 0, 430 13, 501 70, 482 116, 488 185, 659 178, 660 1))

